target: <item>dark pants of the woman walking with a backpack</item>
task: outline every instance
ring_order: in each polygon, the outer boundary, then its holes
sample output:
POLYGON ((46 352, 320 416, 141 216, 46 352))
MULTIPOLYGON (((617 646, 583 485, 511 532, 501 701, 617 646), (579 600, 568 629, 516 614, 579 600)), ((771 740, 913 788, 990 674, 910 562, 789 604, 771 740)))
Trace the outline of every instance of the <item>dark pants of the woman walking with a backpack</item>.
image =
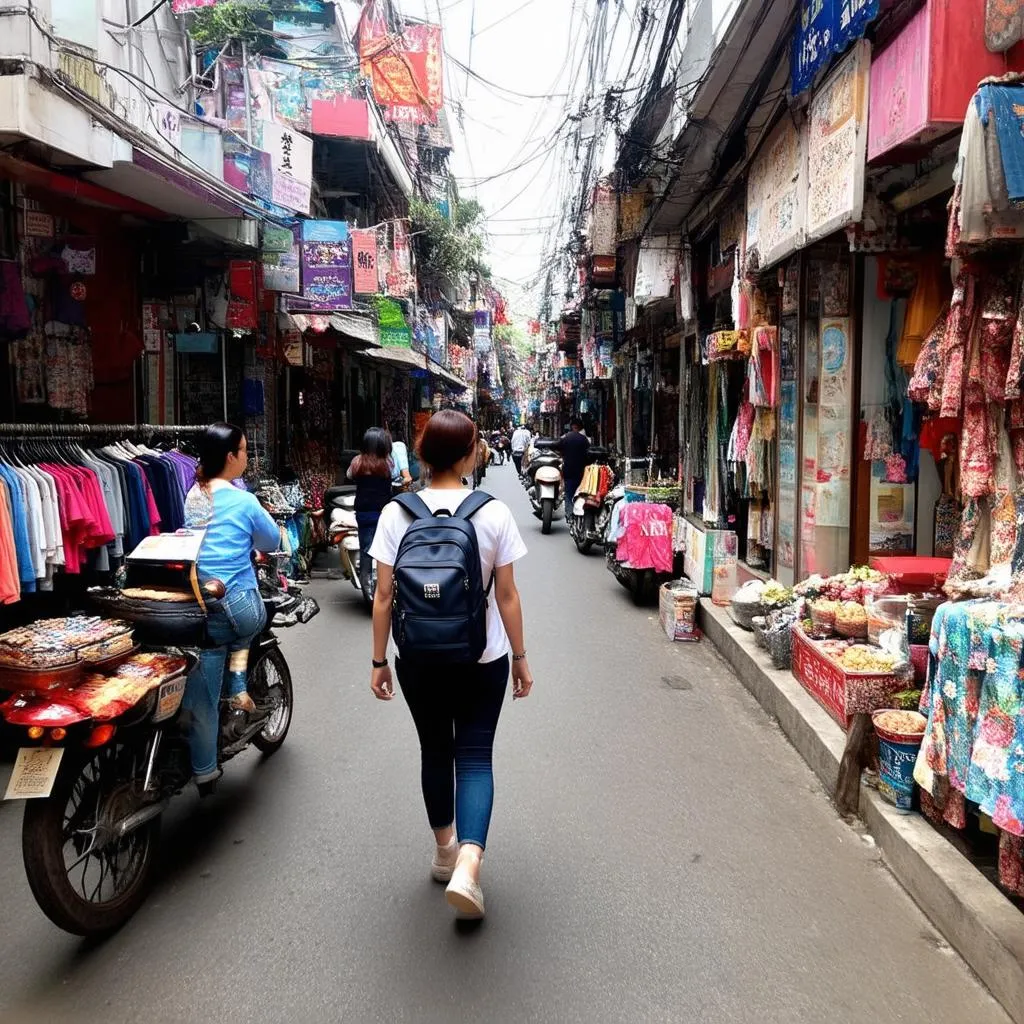
POLYGON ((486 665, 398 660, 398 685, 420 736, 431 828, 454 821, 460 843, 486 846, 495 801, 492 753, 509 678, 508 655, 486 665))

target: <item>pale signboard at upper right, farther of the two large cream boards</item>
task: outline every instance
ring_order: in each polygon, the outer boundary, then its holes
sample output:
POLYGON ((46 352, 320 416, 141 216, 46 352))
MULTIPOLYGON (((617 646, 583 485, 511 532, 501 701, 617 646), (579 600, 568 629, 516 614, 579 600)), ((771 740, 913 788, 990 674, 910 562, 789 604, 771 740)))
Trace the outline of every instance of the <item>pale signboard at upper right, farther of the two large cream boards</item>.
POLYGON ((762 269, 804 244, 807 204, 806 129, 788 117, 761 147, 746 178, 746 252, 762 269))

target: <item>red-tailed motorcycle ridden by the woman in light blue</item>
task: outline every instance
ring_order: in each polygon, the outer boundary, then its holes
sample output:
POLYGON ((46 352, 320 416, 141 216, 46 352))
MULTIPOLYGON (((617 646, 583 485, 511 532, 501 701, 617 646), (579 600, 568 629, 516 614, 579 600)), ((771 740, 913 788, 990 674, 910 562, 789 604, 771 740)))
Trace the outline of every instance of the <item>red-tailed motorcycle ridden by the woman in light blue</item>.
MULTIPOLYGON (((269 756, 284 743, 292 678, 272 626, 307 622, 318 610, 295 588, 283 589, 272 563, 264 560, 258 575, 268 625, 249 658, 256 711, 222 701, 221 764, 250 744, 269 756)), ((100 622, 132 623, 126 649, 49 669, 0 669, 0 689, 14 691, 0 716, 22 737, 5 799, 26 800, 29 885, 50 921, 76 935, 115 931, 146 897, 161 816, 191 778, 181 703, 206 618, 201 602, 168 601, 159 588, 150 596, 137 589, 90 593, 118 615, 100 622)), ((223 586, 204 595, 213 604, 223 586)))

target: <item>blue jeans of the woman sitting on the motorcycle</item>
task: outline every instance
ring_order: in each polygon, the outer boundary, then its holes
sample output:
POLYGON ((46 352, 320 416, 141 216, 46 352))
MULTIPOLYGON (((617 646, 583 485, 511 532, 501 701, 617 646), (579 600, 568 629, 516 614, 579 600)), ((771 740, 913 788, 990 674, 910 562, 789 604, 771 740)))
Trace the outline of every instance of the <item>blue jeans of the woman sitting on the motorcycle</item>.
POLYGON ((193 773, 200 781, 217 771, 220 698, 245 691, 248 668, 243 664, 253 637, 266 624, 266 608, 258 590, 238 588, 210 609, 207 632, 216 646, 200 653, 188 677, 182 708, 191 713, 188 745, 193 773))

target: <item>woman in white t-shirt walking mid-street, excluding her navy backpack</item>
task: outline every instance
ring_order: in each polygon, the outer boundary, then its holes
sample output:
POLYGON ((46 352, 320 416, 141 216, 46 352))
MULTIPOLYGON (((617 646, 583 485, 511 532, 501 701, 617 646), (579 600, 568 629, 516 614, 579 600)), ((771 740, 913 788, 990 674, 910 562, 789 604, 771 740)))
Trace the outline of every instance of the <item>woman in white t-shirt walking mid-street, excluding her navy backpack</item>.
MULTIPOLYGON (((472 494, 463 478, 473 472, 476 444, 476 428, 462 413, 443 410, 428 421, 419 450, 424 466, 430 468, 431 483, 419 497, 432 513, 454 511, 472 494)), ((387 505, 370 549, 377 563, 370 686, 379 700, 394 696, 387 662, 393 569, 411 522, 401 506, 387 505)), ((526 546, 511 511, 500 501, 484 505, 472 523, 482 579, 494 577, 494 600, 486 609, 486 647, 479 662, 437 666, 399 659, 395 671, 420 736, 423 799, 437 844, 431 874, 449 883, 447 902, 463 916, 482 918, 480 862, 494 802, 492 751, 508 685, 510 650, 513 699, 529 695, 534 676, 526 662, 513 568, 526 554, 526 546)))

